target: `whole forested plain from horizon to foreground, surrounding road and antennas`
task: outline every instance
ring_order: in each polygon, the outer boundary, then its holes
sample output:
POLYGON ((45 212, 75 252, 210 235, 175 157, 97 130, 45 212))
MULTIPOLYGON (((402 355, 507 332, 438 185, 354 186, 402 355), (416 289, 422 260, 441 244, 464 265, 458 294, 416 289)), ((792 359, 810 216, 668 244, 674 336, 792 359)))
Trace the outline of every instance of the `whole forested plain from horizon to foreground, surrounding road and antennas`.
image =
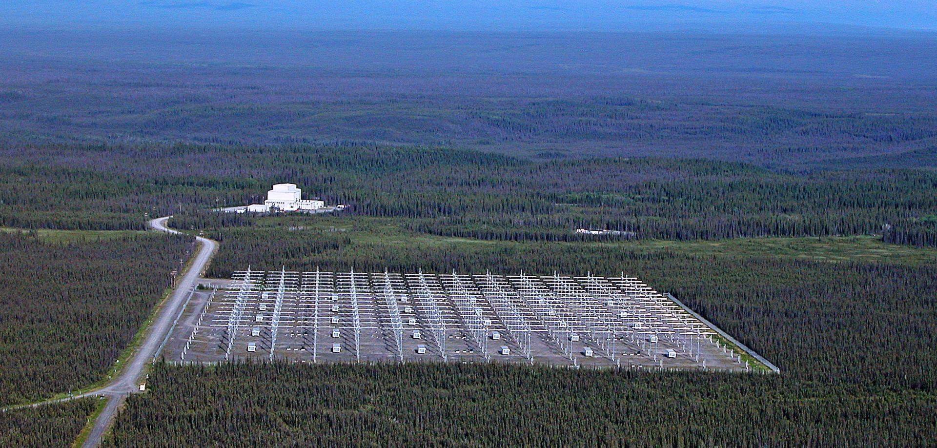
POLYGON ((0 26, 0 406, 106 381, 201 233, 211 277, 639 276, 781 373, 157 361, 107 446, 937 445, 932 34, 105 28, 0 26), (283 182, 348 208, 217 211, 283 182))

